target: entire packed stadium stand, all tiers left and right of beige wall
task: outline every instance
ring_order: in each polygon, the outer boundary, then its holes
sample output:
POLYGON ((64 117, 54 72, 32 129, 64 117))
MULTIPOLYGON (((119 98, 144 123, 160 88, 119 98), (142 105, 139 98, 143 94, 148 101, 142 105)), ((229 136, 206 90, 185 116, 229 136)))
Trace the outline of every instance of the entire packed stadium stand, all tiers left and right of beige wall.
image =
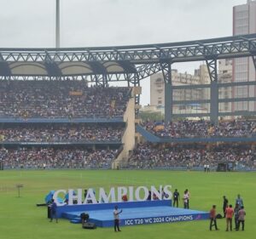
MULTIPOLYGON (((256 169, 253 143, 144 143, 131 151, 134 137, 125 119, 131 91, 131 88, 89 88, 84 81, 1 81, 3 168, 112 168, 118 159, 116 165, 123 168, 202 169, 208 164, 215 169, 218 162, 234 162, 236 169, 256 169), (23 122, 11 122, 16 118, 23 122), (37 122, 26 122, 31 118, 37 122), (49 122, 44 122, 45 118, 49 122), (60 122, 60 118, 68 121, 60 122), (74 118, 94 120, 74 123, 74 118), (113 118, 120 120, 108 122, 113 118), (124 149, 131 151, 130 155, 120 153, 124 149)), ((130 108, 135 110, 134 102, 130 108)), ((134 117, 130 123, 134 127, 134 117)), ((256 123, 246 120, 221 121, 217 125, 206 120, 148 121, 142 125, 162 139, 218 138, 221 142, 224 137, 242 139, 256 134, 256 123)))

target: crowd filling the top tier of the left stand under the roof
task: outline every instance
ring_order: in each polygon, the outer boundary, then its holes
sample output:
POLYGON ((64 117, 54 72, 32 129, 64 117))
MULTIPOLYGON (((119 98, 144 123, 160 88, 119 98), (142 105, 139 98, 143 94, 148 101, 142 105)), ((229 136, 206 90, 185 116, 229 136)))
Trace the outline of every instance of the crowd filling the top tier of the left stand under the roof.
POLYGON ((0 117, 122 117, 130 92, 84 81, 0 81, 0 117))

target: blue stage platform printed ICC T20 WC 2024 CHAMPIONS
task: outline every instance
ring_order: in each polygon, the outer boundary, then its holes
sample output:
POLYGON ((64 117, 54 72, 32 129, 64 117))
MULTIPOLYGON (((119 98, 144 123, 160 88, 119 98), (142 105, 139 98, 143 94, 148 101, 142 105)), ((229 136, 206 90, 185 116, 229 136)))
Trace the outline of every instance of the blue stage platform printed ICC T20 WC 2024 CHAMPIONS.
POLYGON ((113 208, 115 205, 123 210, 123 213, 119 214, 120 225, 145 225, 209 219, 209 213, 207 212, 172 208, 172 202, 166 200, 63 206, 58 208, 58 213, 62 218, 70 219, 73 223, 80 222, 81 213, 89 213, 90 222, 100 227, 110 227, 113 226, 113 208))

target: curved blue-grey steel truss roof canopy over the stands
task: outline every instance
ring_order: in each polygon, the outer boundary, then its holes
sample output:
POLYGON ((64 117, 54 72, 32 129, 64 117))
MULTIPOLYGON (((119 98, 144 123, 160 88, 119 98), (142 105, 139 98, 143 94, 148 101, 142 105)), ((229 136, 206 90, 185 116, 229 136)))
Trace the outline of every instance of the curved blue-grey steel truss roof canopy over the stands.
POLYGON ((256 34, 101 48, 0 48, 0 79, 115 75, 129 80, 131 75, 137 75, 140 80, 163 70, 162 64, 166 62, 254 57, 255 54, 256 34))

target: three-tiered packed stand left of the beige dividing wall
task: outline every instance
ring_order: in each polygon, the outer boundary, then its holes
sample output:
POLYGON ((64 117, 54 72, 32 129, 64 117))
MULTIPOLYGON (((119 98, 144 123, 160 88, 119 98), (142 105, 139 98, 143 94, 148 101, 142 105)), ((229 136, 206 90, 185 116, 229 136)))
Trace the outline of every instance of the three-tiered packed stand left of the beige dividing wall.
POLYGON ((88 87, 82 80, 0 81, 3 168, 112 168, 130 99, 131 88, 88 87))

